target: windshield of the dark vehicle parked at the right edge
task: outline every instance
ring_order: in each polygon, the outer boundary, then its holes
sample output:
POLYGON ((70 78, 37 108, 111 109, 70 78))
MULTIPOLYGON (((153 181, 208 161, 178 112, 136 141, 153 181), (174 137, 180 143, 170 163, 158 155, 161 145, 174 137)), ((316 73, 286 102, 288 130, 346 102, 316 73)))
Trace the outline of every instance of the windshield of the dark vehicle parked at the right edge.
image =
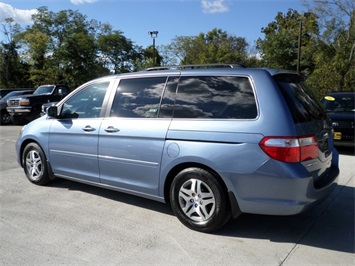
POLYGON ((355 112, 355 93, 330 94, 322 99, 328 113, 355 112))

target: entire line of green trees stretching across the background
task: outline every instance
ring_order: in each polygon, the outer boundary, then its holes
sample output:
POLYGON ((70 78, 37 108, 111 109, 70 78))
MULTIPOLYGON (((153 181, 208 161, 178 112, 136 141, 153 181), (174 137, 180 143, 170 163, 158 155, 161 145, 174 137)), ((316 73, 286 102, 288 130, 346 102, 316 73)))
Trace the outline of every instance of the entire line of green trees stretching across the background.
POLYGON ((176 36, 169 45, 143 48, 110 24, 89 20, 78 11, 51 12, 40 7, 26 29, 12 18, 0 22, 0 87, 65 83, 75 88, 109 73, 157 65, 242 63, 249 67, 300 71, 321 96, 354 90, 355 2, 303 0, 307 11, 277 13, 249 47, 245 38, 214 28, 197 36, 176 36), (302 29, 302 30, 301 30, 302 29), (301 45, 298 45, 301 36, 301 45), (255 50, 256 48, 256 50, 255 50), (300 48, 300 50, 299 50, 300 48))

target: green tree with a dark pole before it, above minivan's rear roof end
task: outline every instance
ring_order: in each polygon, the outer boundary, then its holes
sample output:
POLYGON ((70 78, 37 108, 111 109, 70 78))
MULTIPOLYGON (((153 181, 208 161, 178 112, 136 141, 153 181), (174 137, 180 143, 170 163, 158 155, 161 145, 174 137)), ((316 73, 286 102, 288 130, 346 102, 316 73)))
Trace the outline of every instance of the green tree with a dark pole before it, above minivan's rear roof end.
POLYGON ((263 65, 296 70, 300 48, 300 71, 307 75, 314 71, 312 57, 317 49, 314 36, 318 34, 318 24, 313 13, 302 15, 292 9, 286 14, 279 12, 275 21, 262 28, 261 32, 265 34, 265 38, 257 40, 257 48, 261 52, 263 65), (301 46, 298 47, 300 32, 301 46))

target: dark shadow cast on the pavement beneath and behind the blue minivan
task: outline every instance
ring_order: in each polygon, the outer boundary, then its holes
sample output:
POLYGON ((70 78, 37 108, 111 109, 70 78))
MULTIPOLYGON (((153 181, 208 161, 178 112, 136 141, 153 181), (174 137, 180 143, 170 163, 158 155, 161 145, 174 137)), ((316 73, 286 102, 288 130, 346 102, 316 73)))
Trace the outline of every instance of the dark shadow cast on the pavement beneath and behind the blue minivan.
MULTIPOLYGON (((174 215, 167 204, 68 180, 59 179, 52 183, 51 187, 82 191, 151 211, 174 215)), ((268 239, 272 242, 295 243, 354 253, 354 195, 353 187, 339 185, 326 201, 303 214, 294 216, 242 214, 213 234, 268 239)), ((176 219, 176 222, 179 221, 176 219)))

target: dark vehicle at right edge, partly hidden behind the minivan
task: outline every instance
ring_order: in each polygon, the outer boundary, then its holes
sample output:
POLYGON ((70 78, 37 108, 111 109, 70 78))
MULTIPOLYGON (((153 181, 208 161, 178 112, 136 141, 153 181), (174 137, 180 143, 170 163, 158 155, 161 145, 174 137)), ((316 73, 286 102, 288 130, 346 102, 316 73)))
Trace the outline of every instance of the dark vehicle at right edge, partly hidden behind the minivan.
POLYGON ((334 145, 355 147, 355 92, 333 92, 321 100, 334 128, 334 145))

